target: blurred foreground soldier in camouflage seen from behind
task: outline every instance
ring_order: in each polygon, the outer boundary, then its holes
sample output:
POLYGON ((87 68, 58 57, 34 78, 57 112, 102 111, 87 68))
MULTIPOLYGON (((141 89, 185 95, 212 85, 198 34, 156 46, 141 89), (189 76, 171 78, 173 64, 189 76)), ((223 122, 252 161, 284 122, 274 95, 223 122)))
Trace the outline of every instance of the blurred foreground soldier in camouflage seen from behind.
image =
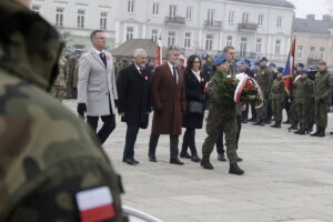
POLYGON ((0 0, 0 221, 81 221, 77 194, 97 198, 85 190, 101 186, 109 211, 93 219, 125 221, 119 176, 95 135, 46 93, 62 48, 57 31, 13 0, 0 0))

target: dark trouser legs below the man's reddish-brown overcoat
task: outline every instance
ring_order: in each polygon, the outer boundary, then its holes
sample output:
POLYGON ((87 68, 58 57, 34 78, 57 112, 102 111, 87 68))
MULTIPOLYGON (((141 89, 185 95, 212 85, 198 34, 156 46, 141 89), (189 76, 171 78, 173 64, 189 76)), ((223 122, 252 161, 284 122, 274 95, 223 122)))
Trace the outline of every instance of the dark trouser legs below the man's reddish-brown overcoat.
MULTIPOLYGON (((157 152, 157 147, 159 143, 159 138, 160 134, 150 134, 150 140, 149 140, 149 154, 150 155, 155 155, 157 152)), ((179 154, 178 150, 178 141, 179 141, 179 135, 170 135, 170 159, 176 159, 179 154)))

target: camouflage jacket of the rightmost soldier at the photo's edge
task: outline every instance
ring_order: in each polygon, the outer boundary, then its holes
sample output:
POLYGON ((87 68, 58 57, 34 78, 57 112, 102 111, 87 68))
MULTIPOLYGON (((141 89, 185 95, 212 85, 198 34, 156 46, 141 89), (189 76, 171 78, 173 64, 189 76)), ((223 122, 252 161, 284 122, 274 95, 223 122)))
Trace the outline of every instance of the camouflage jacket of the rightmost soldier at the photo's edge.
POLYGON ((327 71, 317 72, 314 81, 314 100, 331 103, 333 88, 333 75, 327 71))

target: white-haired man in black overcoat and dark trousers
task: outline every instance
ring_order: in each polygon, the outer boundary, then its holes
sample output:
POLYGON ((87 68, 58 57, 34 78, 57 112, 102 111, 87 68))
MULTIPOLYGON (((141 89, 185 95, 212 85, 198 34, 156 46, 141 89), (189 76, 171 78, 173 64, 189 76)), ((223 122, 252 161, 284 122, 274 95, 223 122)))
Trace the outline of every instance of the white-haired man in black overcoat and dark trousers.
POLYGON ((134 144, 139 129, 147 129, 151 111, 150 75, 144 69, 147 52, 137 49, 133 58, 134 62, 121 70, 117 82, 118 112, 128 124, 122 161, 130 165, 139 163, 134 159, 134 144))

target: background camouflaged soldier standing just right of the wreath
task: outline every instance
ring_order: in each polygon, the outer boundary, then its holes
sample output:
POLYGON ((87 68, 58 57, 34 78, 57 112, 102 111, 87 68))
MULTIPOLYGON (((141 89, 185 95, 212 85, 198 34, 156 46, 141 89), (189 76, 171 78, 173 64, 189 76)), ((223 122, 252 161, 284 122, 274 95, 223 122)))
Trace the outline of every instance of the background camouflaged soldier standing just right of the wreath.
POLYGON ((258 109, 259 120, 258 122, 253 123, 254 125, 264 125, 264 122, 268 120, 268 102, 270 99, 271 85, 273 81, 266 64, 268 64, 268 59, 263 57, 260 60, 260 70, 258 71, 256 80, 263 92, 264 101, 263 101, 263 105, 260 109, 258 109))

